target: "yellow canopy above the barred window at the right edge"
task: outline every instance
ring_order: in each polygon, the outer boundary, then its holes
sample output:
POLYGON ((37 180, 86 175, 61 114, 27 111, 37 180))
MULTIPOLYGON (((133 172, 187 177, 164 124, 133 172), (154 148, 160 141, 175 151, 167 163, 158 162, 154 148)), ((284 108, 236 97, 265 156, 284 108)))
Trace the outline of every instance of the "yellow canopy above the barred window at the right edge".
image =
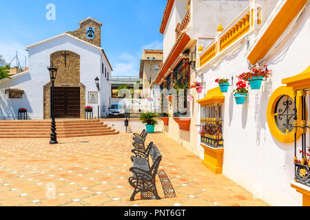
POLYGON ((296 76, 282 79, 282 83, 287 87, 293 87, 293 90, 309 89, 310 88, 310 66, 296 76))

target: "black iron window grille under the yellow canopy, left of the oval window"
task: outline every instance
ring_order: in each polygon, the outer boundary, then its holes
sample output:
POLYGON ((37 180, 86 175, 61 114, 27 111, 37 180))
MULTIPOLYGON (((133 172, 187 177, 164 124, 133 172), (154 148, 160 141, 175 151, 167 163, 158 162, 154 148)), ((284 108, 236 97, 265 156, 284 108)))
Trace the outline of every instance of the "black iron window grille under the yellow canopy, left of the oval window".
POLYGON ((221 104, 205 104, 200 111, 201 143, 214 148, 223 147, 221 104))

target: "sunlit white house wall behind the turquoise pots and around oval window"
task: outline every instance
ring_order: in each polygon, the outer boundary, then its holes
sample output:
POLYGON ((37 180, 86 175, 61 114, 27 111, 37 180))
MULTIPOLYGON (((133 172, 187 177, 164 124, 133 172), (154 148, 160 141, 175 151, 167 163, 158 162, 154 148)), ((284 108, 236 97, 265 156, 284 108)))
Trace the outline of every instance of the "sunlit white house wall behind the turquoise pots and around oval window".
MULTIPOLYGON (((291 32, 291 41, 266 64, 273 76, 258 91, 249 89, 247 101, 237 105, 230 87, 224 104, 223 174, 271 206, 301 206, 302 196, 290 187, 294 176, 293 143, 282 144, 270 133, 267 104, 282 78, 294 76, 310 64, 310 20, 307 14, 291 32)), ((231 78, 248 70, 246 45, 204 72, 207 89, 218 87, 216 78, 231 78)), ((199 146, 198 146, 199 147, 199 146)))

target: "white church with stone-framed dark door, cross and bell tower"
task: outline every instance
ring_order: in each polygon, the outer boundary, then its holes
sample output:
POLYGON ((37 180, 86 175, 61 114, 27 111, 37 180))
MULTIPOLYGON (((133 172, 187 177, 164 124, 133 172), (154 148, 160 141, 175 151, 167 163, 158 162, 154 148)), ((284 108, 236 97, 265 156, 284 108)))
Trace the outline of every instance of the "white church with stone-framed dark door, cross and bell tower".
POLYGON ((85 107, 109 106, 112 67, 101 47, 102 23, 87 18, 74 32, 28 45, 29 70, 0 80, 0 120, 17 119, 18 110, 28 110, 29 119, 50 118, 50 73, 55 80, 56 118, 84 118, 85 107), (96 85, 95 78, 99 78, 96 85))

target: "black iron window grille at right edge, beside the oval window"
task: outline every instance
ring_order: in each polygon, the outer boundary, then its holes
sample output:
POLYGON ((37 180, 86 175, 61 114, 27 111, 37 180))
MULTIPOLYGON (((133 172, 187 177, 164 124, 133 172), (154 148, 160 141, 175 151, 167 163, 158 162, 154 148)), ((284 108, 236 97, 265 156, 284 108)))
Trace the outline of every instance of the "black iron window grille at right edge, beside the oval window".
MULTIPOLYGON (((294 109, 294 126, 293 131, 295 133, 295 180, 301 184, 310 186, 310 152, 309 146, 307 146, 307 129, 309 130, 309 143, 310 143, 310 122, 307 124, 307 93, 309 97, 309 90, 301 89, 301 113, 297 114, 297 109, 294 109), (300 116, 299 116, 300 115, 300 116), (300 124, 298 124, 298 117, 300 117, 300 124), (301 133, 301 147, 297 146, 297 133, 301 133), (298 152, 299 151, 299 152, 298 152), (298 155, 299 153, 299 155, 298 155)), ((295 95, 295 105, 297 100, 297 91, 295 95)), ((309 97, 309 107, 310 107, 310 97, 309 97)), ((308 143, 308 144, 309 144, 308 143)))

